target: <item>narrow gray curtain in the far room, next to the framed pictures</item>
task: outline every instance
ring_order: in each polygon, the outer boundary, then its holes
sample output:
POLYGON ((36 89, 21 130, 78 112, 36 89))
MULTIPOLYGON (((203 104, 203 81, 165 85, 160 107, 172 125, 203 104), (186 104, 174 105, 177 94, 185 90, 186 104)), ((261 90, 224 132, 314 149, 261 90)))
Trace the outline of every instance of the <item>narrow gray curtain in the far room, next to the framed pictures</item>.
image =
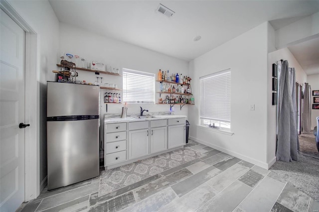
POLYGON ((303 134, 311 134, 311 88, 305 83, 304 101, 303 101, 303 134))

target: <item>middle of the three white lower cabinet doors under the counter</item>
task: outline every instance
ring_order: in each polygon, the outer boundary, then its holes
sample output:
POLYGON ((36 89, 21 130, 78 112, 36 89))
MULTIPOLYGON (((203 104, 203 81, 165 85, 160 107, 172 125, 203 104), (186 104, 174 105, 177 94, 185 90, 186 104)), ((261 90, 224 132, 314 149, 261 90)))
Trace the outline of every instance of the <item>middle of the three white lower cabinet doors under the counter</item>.
POLYGON ((167 127, 151 128, 151 153, 167 149, 167 127))

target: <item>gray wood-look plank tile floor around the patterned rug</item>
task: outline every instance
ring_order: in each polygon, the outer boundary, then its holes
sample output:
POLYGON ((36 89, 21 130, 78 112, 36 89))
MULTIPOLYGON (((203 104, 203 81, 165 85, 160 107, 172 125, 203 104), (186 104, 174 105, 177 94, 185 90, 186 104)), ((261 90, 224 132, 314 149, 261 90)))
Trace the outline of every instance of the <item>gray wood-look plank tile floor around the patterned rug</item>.
POLYGON ((319 212, 319 203, 273 172, 190 141, 204 156, 98 195, 99 177, 47 191, 22 212, 319 212))

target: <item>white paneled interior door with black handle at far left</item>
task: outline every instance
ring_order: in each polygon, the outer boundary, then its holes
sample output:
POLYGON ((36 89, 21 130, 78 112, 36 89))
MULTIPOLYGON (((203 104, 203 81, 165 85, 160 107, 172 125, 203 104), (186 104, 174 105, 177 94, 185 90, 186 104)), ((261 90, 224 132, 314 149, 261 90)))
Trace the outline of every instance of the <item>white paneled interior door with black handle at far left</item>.
POLYGON ((24 31, 0 9, 0 211, 24 201, 24 31))

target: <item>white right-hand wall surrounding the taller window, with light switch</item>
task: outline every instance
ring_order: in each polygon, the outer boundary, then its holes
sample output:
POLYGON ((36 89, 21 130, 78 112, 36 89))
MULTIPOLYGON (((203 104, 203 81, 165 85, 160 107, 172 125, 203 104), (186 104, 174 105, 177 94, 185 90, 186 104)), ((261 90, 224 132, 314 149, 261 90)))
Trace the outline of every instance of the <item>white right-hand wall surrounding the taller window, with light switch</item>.
POLYGON ((189 108, 190 136, 264 168, 267 164, 268 23, 228 41, 191 61, 195 106, 189 108), (231 69, 231 131, 217 133, 199 123, 199 77, 231 69), (196 99, 197 97, 197 99, 196 99), (249 110, 249 105, 255 110, 249 110))

